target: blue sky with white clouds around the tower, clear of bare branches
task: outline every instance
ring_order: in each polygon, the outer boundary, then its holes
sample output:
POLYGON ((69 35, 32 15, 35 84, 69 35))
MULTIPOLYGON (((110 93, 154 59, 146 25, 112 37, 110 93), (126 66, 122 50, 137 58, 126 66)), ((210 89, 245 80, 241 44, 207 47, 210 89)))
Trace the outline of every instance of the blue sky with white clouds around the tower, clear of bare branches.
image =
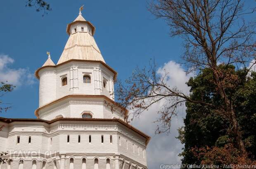
MULTIPOLYGON (((155 19, 147 10, 147 1, 47 2, 52 11, 43 17, 43 13, 36 12, 35 8, 25 7, 26 0, 1 2, 0 79, 16 80, 17 88, 3 97, 12 109, 0 116, 35 118, 39 83, 33 74, 47 59, 46 51, 50 51, 52 60, 57 63, 68 39, 66 25, 78 16, 81 5, 85 5, 83 17, 96 27, 94 37, 104 60, 118 72, 119 79, 127 79, 135 67, 147 66, 149 59, 155 58, 160 72, 164 69, 170 72, 170 86, 189 91, 185 82, 191 75, 186 75, 183 67, 177 64, 183 53, 182 39, 169 36, 166 23, 155 19)), ((255 4, 254 0, 250 2, 255 4)), ((161 105, 154 105, 134 123, 135 127, 152 136, 147 148, 149 169, 157 169, 160 164, 180 163, 178 153, 183 147, 175 137, 178 136, 177 128, 183 125, 185 107, 174 117, 171 134, 154 136, 152 121, 157 118, 156 111, 161 105)))

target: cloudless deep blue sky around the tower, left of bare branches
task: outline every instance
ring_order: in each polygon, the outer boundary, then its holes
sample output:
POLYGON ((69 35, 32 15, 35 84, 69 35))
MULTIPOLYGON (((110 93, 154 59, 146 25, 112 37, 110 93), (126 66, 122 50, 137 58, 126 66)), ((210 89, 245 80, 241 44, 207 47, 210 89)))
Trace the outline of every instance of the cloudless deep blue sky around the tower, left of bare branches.
MULTIPOLYGON (((0 6, 0 54, 14 59, 11 69, 29 69, 34 73, 47 59, 50 51, 57 63, 68 35, 66 25, 78 16, 79 7, 85 5, 83 16, 96 27, 95 40, 108 65, 126 79, 136 66, 147 65, 155 58, 158 65, 176 60, 181 51, 178 38, 168 36, 166 23, 147 10, 144 0, 50 1, 52 11, 41 16, 35 8, 25 7, 26 0, 3 1, 0 6)), ((37 79, 33 85, 22 86, 5 96, 12 109, 1 116, 34 118, 38 107, 37 79)))

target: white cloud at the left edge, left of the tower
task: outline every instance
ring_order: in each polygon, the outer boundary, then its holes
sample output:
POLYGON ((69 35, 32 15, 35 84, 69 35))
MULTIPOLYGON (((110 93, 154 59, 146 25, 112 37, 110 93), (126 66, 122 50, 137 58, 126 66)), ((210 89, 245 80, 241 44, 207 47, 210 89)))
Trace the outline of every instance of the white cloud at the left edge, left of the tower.
POLYGON ((34 76, 28 68, 13 69, 10 67, 12 63, 14 63, 14 59, 0 54, 0 81, 8 81, 17 87, 35 83, 34 76))

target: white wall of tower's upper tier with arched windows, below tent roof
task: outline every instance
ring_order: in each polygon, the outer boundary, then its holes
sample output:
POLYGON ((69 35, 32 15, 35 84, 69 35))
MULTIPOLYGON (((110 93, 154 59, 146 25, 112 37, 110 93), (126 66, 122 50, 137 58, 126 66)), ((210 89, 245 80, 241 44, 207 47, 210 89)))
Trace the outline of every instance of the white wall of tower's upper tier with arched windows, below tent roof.
POLYGON ((58 67, 46 67, 38 72, 39 106, 70 94, 106 95, 114 100, 114 73, 101 63, 69 62, 58 67), (83 75, 91 77, 91 83, 83 83, 83 75), (67 85, 62 86, 62 78, 67 85), (107 81, 103 88, 103 80, 107 81))

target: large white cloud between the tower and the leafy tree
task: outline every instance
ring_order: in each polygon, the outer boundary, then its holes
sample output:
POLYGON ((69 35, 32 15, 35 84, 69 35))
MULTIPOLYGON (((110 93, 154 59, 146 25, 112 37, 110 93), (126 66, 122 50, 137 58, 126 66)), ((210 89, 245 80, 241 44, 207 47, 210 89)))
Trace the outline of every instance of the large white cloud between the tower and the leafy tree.
MULTIPOLYGON (((185 70, 180 64, 173 61, 165 63, 160 67, 157 73, 161 76, 166 76, 166 83, 169 86, 177 87, 183 93, 189 93, 190 88, 185 84, 192 74, 186 74, 185 70)), ((183 126, 183 118, 185 118, 186 107, 180 107, 178 116, 173 116, 171 123, 170 134, 154 135, 156 123, 153 123, 157 118, 157 111, 159 111, 165 101, 154 104, 148 111, 143 112, 140 118, 133 120, 133 124, 139 130, 152 137, 147 146, 147 164, 149 169, 159 169, 161 164, 180 164, 181 157, 178 156, 182 152, 183 145, 175 137, 178 136, 177 129, 183 126)))

